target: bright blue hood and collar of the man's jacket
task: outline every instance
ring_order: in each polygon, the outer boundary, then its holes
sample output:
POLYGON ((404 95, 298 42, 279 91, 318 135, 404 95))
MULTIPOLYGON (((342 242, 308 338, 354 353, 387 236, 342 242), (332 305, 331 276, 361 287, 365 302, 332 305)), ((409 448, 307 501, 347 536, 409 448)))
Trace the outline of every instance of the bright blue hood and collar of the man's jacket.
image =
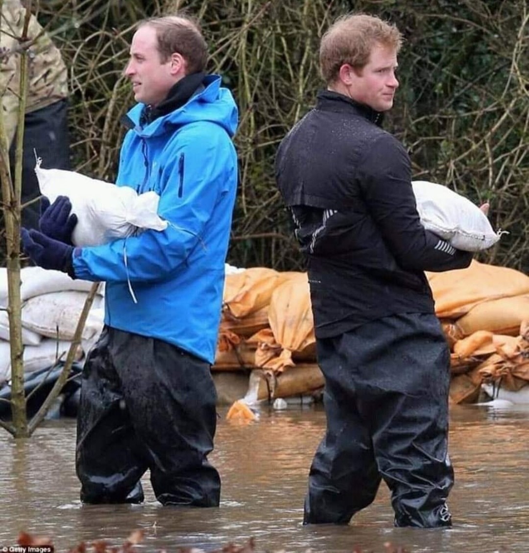
POLYGON ((205 88, 191 96, 184 106, 156 118, 145 127, 140 125, 140 116, 145 104, 135 105, 127 113, 134 131, 142 137, 150 137, 164 133, 168 125, 180 127, 196 121, 210 121, 221 126, 230 137, 233 137, 239 116, 232 93, 221 87, 219 75, 207 75, 202 84, 205 88))

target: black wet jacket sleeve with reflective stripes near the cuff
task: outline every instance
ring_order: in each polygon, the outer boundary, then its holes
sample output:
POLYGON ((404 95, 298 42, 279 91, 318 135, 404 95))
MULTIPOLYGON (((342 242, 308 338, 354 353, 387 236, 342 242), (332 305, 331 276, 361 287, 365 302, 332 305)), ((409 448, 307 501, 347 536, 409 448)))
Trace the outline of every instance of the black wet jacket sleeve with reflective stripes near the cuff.
POLYGON ((411 186, 410 159, 391 135, 379 137, 360 166, 359 182, 371 217, 406 270, 468 267, 472 253, 453 248, 421 224, 411 186))

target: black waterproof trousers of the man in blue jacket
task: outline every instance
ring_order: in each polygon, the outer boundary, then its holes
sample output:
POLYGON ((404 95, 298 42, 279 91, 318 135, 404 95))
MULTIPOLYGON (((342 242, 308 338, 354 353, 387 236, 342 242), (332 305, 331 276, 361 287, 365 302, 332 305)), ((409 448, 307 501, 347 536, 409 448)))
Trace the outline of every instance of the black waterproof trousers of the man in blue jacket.
POLYGON ((150 469, 164 505, 217 507, 207 461, 216 430, 207 362, 167 342, 105 327, 82 373, 76 469, 84 503, 140 503, 150 469))

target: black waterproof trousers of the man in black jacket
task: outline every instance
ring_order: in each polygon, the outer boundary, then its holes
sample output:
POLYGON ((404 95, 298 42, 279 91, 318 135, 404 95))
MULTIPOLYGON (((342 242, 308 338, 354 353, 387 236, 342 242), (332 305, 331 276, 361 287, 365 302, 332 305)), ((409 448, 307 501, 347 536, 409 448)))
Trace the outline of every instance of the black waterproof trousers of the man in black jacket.
POLYGON ((391 491, 396 526, 451 525, 449 349, 437 317, 385 317, 318 340, 327 431, 310 469, 305 524, 348 524, 391 491))

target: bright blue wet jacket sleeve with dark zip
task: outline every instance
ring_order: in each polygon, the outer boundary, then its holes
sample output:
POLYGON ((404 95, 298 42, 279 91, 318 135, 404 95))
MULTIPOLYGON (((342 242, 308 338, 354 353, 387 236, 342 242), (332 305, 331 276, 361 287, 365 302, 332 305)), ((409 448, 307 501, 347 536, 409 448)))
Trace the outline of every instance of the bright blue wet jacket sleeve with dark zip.
MULTIPOLYGON (((212 129, 207 135, 179 140, 160 178, 158 213, 169 222, 164 231, 145 230, 138 236, 103 246, 77 249, 77 278, 104 281, 155 281, 163 279, 195 248, 207 248, 203 231, 222 194, 227 172, 234 170, 231 141, 212 129)), ((224 266, 224 260, 219 260, 224 266)))

